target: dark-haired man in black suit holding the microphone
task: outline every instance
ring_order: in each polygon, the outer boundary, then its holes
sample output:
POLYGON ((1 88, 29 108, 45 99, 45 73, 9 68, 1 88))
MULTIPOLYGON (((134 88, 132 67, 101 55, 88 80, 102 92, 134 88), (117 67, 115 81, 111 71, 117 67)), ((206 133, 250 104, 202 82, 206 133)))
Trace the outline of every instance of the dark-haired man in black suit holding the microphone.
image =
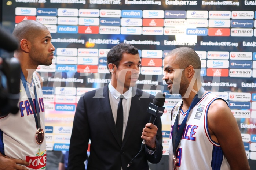
MULTIPOLYGON (((118 44, 107 54, 111 82, 85 93, 79 100, 70 139, 68 170, 84 170, 88 142, 91 140, 87 170, 126 170, 129 162, 146 140, 146 147, 129 166, 129 170, 149 170, 147 161, 158 163, 162 158, 161 119, 148 123, 147 113, 153 95, 135 88, 139 76, 138 49, 118 44), (116 128, 120 95, 124 122, 122 141, 116 128)), ((121 135, 120 135, 121 136, 121 135)))

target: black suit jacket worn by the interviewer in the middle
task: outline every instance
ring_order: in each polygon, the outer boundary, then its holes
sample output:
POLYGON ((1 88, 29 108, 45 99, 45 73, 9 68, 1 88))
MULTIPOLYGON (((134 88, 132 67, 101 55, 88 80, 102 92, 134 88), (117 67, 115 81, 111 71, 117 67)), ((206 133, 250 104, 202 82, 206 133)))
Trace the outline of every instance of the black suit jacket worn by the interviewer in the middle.
MULTIPOLYGON (((87 170, 123 170, 134 158, 141 147, 142 129, 149 122, 147 113, 154 96, 133 88, 133 97, 127 127, 122 144, 118 142, 108 86, 85 93, 80 98, 74 116, 73 130, 69 148, 68 170, 84 170, 88 142, 91 140, 87 170), (140 96, 147 95, 146 98, 140 96)), ((158 127, 156 151, 150 155, 145 149, 134 159, 129 170, 149 170, 147 160, 158 163, 162 158, 162 124, 157 117, 158 127)))

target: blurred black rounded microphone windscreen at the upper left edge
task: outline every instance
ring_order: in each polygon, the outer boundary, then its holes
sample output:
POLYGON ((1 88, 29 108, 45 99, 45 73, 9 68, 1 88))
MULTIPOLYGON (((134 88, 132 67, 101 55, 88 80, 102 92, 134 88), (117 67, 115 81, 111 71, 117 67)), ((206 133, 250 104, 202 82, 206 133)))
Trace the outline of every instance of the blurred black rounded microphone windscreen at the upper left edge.
POLYGON ((18 41, 8 31, 0 27, 0 49, 13 52, 18 49, 18 41))

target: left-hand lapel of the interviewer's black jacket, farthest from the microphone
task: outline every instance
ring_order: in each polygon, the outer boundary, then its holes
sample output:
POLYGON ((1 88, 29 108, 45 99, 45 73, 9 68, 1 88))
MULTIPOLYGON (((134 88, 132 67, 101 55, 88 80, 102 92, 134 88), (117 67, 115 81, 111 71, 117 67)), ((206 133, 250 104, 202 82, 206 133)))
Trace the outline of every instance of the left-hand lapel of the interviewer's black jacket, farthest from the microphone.
POLYGON ((121 147, 121 143, 118 139, 117 129, 116 129, 116 123, 114 121, 110 101, 109 101, 109 88, 108 86, 104 86, 103 88, 103 96, 104 98, 99 98, 99 102, 101 104, 102 110, 104 110, 103 116, 106 119, 107 124, 109 125, 109 128, 111 132, 113 133, 115 139, 117 140, 118 144, 121 147))

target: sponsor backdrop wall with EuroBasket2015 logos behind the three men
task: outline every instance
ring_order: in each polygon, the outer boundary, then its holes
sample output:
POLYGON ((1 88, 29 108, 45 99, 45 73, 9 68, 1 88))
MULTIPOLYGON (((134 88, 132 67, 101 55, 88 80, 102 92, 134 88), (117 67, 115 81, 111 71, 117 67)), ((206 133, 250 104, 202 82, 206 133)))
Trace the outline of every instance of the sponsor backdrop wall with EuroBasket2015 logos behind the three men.
POLYGON ((110 81, 107 52, 124 42, 140 52, 138 88, 167 96, 161 118, 168 155, 170 112, 180 96, 170 95, 162 81, 163 59, 188 46, 201 58, 205 89, 225 99, 237 118, 255 169, 256 1, 3 0, 2 5, 3 26, 10 32, 32 19, 52 35, 53 64, 37 69, 44 81, 47 150, 69 149, 80 96, 110 81))

